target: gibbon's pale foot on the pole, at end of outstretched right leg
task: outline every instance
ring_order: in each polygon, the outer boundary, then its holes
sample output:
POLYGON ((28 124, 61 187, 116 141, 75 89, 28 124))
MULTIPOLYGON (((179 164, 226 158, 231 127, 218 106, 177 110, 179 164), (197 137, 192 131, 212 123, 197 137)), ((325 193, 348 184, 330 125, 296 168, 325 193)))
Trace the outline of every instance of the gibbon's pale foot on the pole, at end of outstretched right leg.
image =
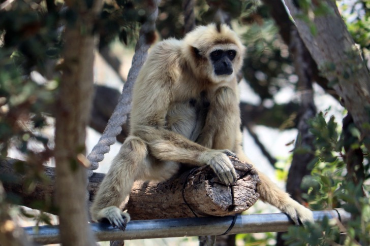
POLYGON ((305 225, 307 223, 314 223, 314 216, 312 211, 298 202, 290 203, 283 209, 296 225, 305 225))

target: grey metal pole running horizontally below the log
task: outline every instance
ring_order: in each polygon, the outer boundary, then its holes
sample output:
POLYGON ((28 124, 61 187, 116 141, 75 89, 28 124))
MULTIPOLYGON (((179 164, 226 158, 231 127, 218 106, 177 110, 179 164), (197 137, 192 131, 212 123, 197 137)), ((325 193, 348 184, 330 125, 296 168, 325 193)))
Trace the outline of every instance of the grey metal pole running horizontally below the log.
MULTIPOLYGON (((313 213, 315 222, 327 216, 329 219, 337 219, 346 224, 351 218, 351 215, 342 208, 313 213)), ((221 235, 229 229, 233 219, 234 216, 131 221, 127 224, 125 232, 108 224, 91 223, 90 226, 99 241, 111 241, 221 235)), ((227 234, 287 231, 292 224, 289 217, 283 213, 236 215, 235 224, 227 234)), ((40 226, 38 232, 34 231, 34 227, 24 227, 24 230, 37 243, 60 242, 58 226, 40 226)))

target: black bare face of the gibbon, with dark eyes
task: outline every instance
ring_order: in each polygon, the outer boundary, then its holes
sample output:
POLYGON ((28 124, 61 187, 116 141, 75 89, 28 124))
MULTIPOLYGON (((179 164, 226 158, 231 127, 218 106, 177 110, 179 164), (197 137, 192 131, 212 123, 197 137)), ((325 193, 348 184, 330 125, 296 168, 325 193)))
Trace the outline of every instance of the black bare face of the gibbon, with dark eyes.
POLYGON ((210 53, 215 75, 231 75, 233 73, 233 63, 236 56, 235 50, 215 50, 210 53))

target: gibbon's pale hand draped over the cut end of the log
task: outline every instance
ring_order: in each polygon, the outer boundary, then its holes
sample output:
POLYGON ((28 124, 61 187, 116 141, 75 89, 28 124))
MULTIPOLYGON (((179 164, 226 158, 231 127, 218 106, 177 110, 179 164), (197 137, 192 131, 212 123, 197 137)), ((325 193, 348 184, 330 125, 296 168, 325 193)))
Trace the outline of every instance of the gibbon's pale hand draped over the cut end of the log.
POLYGON ((229 156, 236 157, 229 150, 212 150, 206 155, 206 164, 209 165, 217 174, 217 177, 226 185, 232 185, 236 181, 235 168, 232 165, 229 156))

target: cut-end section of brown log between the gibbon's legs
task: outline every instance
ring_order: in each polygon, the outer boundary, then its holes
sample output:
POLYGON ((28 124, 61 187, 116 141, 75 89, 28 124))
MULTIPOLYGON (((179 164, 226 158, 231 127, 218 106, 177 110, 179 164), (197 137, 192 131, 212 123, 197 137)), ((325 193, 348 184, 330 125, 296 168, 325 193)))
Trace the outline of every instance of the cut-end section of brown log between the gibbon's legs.
POLYGON ((241 213, 258 199, 256 171, 230 157, 239 179, 226 186, 208 167, 185 172, 167 182, 136 182, 127 205, 134 220, 226 216, 241 213), (194 215, 195 213, 195 215, 194 215))

